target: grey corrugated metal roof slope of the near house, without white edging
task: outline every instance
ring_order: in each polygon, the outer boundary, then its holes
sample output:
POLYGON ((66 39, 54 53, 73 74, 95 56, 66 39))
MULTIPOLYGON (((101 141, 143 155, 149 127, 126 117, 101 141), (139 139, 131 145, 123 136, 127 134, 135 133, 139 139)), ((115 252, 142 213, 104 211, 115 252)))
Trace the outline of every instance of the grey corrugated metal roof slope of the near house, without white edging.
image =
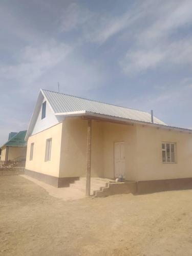
MULTIPOLYGON (((129 109, 123 106, 84 99, 48 90, 42 90, 42 92, 48 99, 55 113, 86 111, 93 114, 107 115, 149 123, 152 122, 151 114, 144 111, 129 109)), ((156 117, 154 117, 154 123, 166 125, 163 121, 156 117)))

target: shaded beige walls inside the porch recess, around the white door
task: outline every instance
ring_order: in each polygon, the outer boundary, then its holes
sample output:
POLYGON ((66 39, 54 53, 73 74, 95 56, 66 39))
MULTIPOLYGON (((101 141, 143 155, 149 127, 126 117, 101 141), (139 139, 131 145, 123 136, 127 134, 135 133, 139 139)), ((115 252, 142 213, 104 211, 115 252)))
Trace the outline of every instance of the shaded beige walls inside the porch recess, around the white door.
MULTIPOLYGON (((88 121, 63 121, 60 177, 86 176, 88 121)), ((136 128, 92 121, 91 175, 114 178, 114 142, 125 141, 126 179, 134 179, 136 169, 136 128), (129 171, 128 171, 129 170, 129 171)))

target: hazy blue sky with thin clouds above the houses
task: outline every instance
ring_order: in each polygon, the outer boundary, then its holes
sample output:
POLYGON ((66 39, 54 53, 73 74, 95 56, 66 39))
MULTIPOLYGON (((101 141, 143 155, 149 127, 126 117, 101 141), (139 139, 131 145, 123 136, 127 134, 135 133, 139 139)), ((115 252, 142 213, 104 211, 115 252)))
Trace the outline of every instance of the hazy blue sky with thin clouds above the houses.
POLYGON ((0 145, 40 88, 192 129, 191 0, 0 2, 0 145))

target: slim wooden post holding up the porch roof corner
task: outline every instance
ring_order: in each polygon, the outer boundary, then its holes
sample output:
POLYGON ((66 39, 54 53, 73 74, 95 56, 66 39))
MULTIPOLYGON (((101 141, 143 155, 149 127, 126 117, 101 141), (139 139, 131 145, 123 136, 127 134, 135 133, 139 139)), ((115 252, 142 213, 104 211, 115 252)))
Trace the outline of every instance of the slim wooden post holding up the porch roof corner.
POLYGON ((91 119, 88 120, 86 196, 91 192, 91 119))

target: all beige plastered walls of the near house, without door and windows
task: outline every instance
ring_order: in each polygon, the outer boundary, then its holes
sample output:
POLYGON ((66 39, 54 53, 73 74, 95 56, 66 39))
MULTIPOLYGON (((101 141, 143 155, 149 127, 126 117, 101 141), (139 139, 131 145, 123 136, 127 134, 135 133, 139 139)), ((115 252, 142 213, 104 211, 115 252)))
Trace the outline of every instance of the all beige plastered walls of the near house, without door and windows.
MULTIPOLYGON (((86 176, 88 121, 66 118, 29 137, 26 168, 55 177, 86 176), (45 162, 46 139, 52 138, 51 161, 45 162), (30 144, 33 160, 29 161, 30 144)), ((192 177, 192 135, 146 125, 92 121, 91 175, 114 178, 114 143, 124 141, 125 179, 192 177), (162 142, 177 145, 177 163, 162 163, 162 142)))

